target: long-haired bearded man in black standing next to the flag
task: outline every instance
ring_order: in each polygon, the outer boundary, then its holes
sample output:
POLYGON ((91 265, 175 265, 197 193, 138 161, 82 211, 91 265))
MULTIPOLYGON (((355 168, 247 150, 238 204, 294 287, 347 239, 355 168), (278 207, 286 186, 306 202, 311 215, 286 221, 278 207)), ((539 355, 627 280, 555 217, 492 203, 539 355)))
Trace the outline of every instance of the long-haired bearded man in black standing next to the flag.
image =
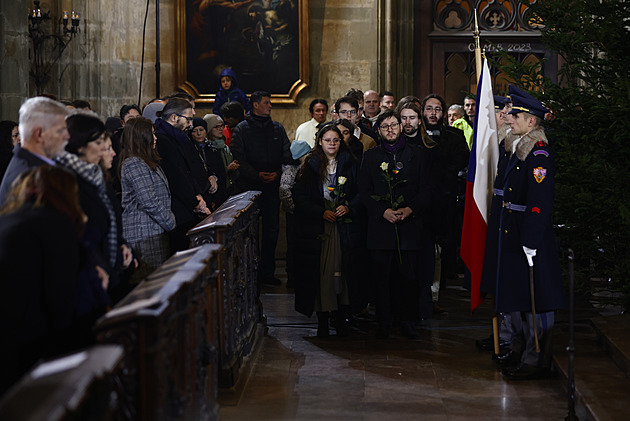
MULTIPOLYGON (((436 94, 422 101, 422 119, 427 134, 436 145, 429 150, 436 171, 436 221, 434 235, 441 259, 440 277, 434 282, 433 298, 437 301, 440 283, 445 277, 456 276, 457 245, 461 228, 457 218, 458 174, 468 165, 469 150, 464 132, 444 125, 446 103, 436 94)), ((437 307, 436 311, 442 310, 437 307)))

